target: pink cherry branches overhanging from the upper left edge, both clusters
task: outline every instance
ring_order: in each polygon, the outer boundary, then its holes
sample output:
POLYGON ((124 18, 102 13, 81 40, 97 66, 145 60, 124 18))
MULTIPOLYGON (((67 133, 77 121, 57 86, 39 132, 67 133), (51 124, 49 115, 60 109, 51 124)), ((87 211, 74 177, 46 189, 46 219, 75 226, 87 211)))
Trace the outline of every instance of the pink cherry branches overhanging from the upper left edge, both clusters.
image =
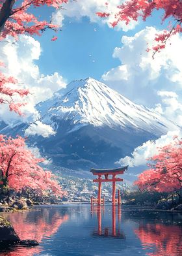
MULTIPOLYGON (((62 4, 68 0, 0 0, 0 42, 8 36, 18 39, 18 35, 41 35, 46 29, 58 30, 58 26, 52 24, 51 20, 41 20, 40 16, 32 13, 32 8, 40 8, 47 5, 52 8, 62 8, 62 4)), ((53 37, 51 40, 56 40, 53 37)), ((0 60, 2 69, 3 63, 0 60)), ((13 77, 6 77, 0 70, 0 104, 9 104, 10 110, 21 115, 22 103, 14 100, 16 95, 24 97, 29 93, 28 89, 15 89, 18 81, 13 77)))

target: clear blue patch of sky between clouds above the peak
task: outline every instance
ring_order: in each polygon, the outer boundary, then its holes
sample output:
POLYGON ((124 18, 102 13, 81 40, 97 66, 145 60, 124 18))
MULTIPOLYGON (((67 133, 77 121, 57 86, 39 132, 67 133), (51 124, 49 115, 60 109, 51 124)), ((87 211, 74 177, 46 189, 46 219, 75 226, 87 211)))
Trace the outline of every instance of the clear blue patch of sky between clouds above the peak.
MULTIPOLYGON (((49 9, 42 10, 42 17, 50 15, 49 9)), ((147 22, 140 22, 136 28, 124 32, 112 29, 107 24, 90 22, 90 18, 65 17, 62 31, 57 33, 58 40, 51 42, 53 31, 46 31, 42 37, 35 37, 41 43, 42 55, 38 65, 43 73, 60 72, 68 82, 92 76, 101 79, 104 72, 119 65, 120 61, 112 57, 115 47, 121 46, 123 35, 132 36, 147 25, 159 29, 164 27, 156 12, 147 22)))

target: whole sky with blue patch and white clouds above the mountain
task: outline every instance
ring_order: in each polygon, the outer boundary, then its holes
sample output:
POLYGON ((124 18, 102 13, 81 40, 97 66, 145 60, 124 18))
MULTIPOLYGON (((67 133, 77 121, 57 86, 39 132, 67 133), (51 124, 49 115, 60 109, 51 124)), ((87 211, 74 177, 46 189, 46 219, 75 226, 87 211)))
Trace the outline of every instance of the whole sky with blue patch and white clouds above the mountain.
MULTIPOLYGON (((110 8, 115 8, 116 2, 120 0, 110 0, 110 8)), ((32 115, 28 120, 37 120, 37 103, 49 99, 68 82, 91 76, 182 125, 181 35, 152 59, 152 52, 146 49, 168 25, 161 24, 162 12, 153 12, 146 22, 140 20, 129 27, 120 24, 113 29, 109 18, 96 16, 104 6, 104 0, 79 0, 70 1, 66 9, 57 12, 48 7, 34 8, 42 20, 54 17, 62 29, 56 34, 58 40, 52 42, 55 33, 45 31, 42 37, 22 35, 16 44, 1 44, 0 57, 7 74, 32 92, 25 106, 25 115, 32 115)), ((5 121, 17 118, 8 109, 0 116, 5 121)))

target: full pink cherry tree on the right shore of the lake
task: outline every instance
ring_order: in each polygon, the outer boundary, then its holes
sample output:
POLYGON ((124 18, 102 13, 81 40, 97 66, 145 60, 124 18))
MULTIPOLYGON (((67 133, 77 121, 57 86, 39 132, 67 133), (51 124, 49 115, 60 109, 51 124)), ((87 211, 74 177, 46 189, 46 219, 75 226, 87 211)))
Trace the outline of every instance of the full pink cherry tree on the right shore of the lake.
POLYGON ((182 140, 174 137, 174 144, 159 149, 151 157, 148 170, 138 176, 135 185, 148 191, 172 192, 182 187, 182 140))

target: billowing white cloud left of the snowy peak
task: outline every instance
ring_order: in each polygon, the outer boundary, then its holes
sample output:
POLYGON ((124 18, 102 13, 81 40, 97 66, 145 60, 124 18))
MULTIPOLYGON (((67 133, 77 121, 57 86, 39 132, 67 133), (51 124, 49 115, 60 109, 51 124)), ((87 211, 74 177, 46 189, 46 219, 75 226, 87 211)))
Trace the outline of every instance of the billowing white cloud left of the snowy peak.
MULTIPOLYGON (((5 67, 1 67, 1 71, 7 76, 14 76, 18 80, 18 88, 29 88, 31 92, 31 95, 25 99, 25 106, 22 107, 24 116, 18 117, 14 112, 8 110, 8 106, 1 106, 0 118, 5 123, 10 124, 18 120, 27 123, 37 121, 40 114, 35 105, 49 99, 55 91, 66 86, 66 80, 59 73, 45 75, 40 72, 35 63, 40 56, 40 42, 27 35, 21 35, 18 41, 10 37, 1 41, 0 59, 5 63, 5 67)), ((23 99, 18 100, 24 101, 23 99)), ((38 131, 38 127, 36 127, 36 131, 38 131)), ((51 129, 47 129, 48 131, 51 135, 51 129)), ((47 132, 43 134, 45 135, 47 132)))

